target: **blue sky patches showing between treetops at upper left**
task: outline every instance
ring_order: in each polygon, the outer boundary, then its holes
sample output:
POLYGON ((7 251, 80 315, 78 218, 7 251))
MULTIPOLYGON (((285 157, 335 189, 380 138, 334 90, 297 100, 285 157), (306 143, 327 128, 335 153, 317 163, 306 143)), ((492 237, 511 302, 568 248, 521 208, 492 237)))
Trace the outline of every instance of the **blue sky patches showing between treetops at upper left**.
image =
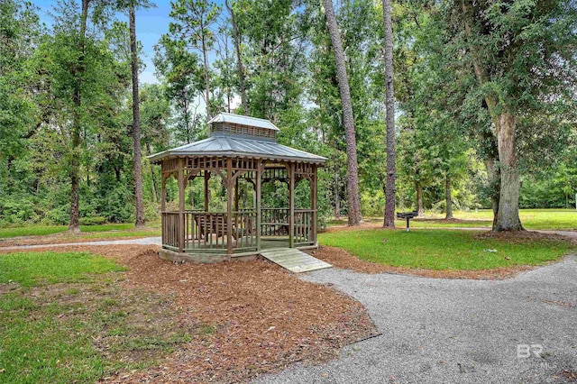
MULTIPOLYGON (((157 83, 158 79, 154 74, 154 44, 160 40, 163 33, 169 32, 170 23, 170 1, 169 0, 152 0, 156 4, 155 8, 136 10, 136 38, 142 42, 142 50, 145 57, 142 58, 146 68, 141 73, 140 83, 157 83)), ((224 9, 224 0, 216 0, 217 5, 224 9)), ((50 10, 57 0, 32 0, 32 4, 39 7, 39 16, 42 23, 50 27, 52 19, 50 10)), ((117 14, 119 21, 128 23, 126 14, 117 14)))

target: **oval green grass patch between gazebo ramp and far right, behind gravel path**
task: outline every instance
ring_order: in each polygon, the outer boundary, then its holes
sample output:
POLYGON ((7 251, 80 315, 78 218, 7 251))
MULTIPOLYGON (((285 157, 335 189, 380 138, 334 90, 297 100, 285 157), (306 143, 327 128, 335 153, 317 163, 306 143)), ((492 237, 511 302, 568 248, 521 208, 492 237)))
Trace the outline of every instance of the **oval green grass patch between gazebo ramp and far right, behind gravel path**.
POLYGON ((539 265, 574 251, 557 240, 478 239, 470 231, 363 230, 319 233, 319 243, 343 248, 364 261, 429 270, 490 270, 539 265), (496 251, 494 251, 496 250, 496 251))

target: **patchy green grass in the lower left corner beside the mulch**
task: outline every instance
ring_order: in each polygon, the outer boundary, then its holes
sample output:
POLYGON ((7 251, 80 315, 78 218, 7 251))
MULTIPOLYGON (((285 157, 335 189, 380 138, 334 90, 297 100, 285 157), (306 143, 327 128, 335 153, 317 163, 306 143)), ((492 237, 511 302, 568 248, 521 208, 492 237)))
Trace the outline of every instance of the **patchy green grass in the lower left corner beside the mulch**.
POLYGON ((0 382, 95 382, 189 340, 169 297, 121 288, 87 252, 0 255, 0 382))

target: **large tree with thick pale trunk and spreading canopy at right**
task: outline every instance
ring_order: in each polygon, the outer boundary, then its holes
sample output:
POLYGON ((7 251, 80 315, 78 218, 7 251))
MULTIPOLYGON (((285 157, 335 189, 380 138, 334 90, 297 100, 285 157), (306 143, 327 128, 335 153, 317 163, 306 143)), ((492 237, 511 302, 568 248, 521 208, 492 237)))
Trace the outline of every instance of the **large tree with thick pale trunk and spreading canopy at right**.
POLYGON ((494 229, 522 230, 519 133, 529 115, 574 103, 575 4, 462 0, 447 5, 444 15, 454 57, 472 69, 497 139, 500 191, 494 229))

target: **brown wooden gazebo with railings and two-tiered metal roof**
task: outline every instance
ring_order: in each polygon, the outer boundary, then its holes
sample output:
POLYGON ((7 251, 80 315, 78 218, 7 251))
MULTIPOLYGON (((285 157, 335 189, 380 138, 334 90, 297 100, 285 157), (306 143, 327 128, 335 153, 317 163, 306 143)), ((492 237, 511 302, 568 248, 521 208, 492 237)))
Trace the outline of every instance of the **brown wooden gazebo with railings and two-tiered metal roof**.
POLYGON ((208 122, 207 139, 149 157, 161 168, 160 257, 193 262, 250 260, 264 250, 317 247, 317 169, 325 158, 279 144, 277 133, 279 128, 269 120, 222 113, 208 122), (178 210, 176 199, 173 209, 167 209, 171 177, 178 181, 178 210), (220 209, 211 204, 211 179, 212 190, 216 185, 222 191, 220 209), (193 206, 186 194, 195 180, 204 191, 202 207, 193 206), (295 188, 301 181, 310 186, 309 206, 297 207, 295 188), (271 182, 272 191, 286 184, 282 189, 288 190, 288 197, 279 204, 283 198, 275 195, 277 206, 262 206, 263 184, 271 182))

